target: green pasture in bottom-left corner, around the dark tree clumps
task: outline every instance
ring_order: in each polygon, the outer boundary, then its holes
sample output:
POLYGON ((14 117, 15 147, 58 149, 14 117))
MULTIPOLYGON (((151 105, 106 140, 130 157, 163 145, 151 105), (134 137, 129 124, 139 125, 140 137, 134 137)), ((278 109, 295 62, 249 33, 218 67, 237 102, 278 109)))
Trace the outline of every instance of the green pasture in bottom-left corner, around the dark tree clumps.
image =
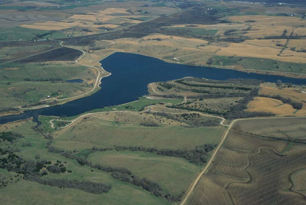
MULTIPOLYGON (((58 187, 51 187, 49 185, 41 185, 36 182, 26 181, 19 178, 15 182, 16 174, 8 172, 7 170, 0 169, 0 178, 2 177, 13 178, 14 183, 10 183, 1 189, 0 200, 6 201, 6 204, 170 204, 168 201, 161 197, 155 197, 141 187, 131 185, 126 182, 116 180, 111 177, 111 173, 101 170, 94 170, 88 166, 80 166, 76 160, 65 158, 60 154, 54 154, 47 151, 46 143, 48 140, 44 139, 40 134, 31 134, 31 126, 35 124, 32 122, 25 123, 24 125, 14 128, 13 132, 22 132, 27 130, 28 134, 24 138, 19 139, 15 144, 21 151, 17 152, 19 156, 24 159, 34 159, 35 155, 39 155, 40 159, 47 159, 55 162, 56 160, 62 161, 68 170, 72 173, 53 174, 49 173, 46 178, 66 178, 77 180, 91 180, 96 182, 103 182, 111 184, 112 188, 109 192, 103 194, 91 194, 78 189, 61 189, 58 187), (21 146, 22 142, 29 143, 31 146, 21 146), (18 192, 18 195, 11 197, 12 192, 18 192)), ((3 142, 2 142, 3 143, 3 142)), ((9 146, 13 147, 12 144, 9 146)), ((1 145, 3 148, 3 144, 1 145)))

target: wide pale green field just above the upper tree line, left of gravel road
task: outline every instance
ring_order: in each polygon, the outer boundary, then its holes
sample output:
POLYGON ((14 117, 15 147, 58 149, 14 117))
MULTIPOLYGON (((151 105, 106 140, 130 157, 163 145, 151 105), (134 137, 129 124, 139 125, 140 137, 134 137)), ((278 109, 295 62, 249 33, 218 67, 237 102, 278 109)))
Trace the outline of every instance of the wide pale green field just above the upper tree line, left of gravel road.
POLYGON ((95 119, 95 123, 82 121, 74 124, 66 128, 65 132, 54 140, 54 144, 65 148, 69 146, 70 141, 79 141, 85 142, 87 148, 117 145, 192 149, 196 145, 217 144, 224 131, 224 128, 218 127, 186 128, 178 125, 144 127, 137 124, 120 126, 120 123, 113 123, 113 125, 106 123, 105 120, 98 118, 95 119))

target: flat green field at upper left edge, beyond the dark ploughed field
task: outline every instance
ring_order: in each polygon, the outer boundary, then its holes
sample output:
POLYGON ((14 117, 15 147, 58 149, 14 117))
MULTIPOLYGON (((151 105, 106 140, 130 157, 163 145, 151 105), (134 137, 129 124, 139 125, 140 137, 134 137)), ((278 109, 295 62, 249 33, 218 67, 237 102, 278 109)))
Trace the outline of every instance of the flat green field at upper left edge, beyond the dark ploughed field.
POLYGON ((0 41, 16 41, 19 39, 30 40, 35 38, 37 35, 47 33, 46 30, 32 29, 32 28, 0 28, 0 41))

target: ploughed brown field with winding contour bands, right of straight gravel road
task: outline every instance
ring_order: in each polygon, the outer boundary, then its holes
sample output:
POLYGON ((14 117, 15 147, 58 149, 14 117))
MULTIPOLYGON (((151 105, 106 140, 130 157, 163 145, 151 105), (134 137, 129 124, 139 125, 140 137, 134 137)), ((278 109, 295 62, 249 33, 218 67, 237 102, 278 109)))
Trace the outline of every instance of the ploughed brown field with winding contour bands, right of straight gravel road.
MULTIPOLYGON (((261 125, 265 127, 270 122, 291 125, 301 119, 269 120, 244 120, 238 124, 244 129, 259 130, 261 125)), ((239 126, 234 129, 240 129, 239 126)), ((285 141, 255 137, 244 131, 230 131, 188 204, 305 204, 304 196, 291 190, 288 176, 306 168, 306 145, 299 144, 304 149, 285 152, 288 145, 285 141)), ((299 190, 306 189, 303 182, 298 185, 299 190)))

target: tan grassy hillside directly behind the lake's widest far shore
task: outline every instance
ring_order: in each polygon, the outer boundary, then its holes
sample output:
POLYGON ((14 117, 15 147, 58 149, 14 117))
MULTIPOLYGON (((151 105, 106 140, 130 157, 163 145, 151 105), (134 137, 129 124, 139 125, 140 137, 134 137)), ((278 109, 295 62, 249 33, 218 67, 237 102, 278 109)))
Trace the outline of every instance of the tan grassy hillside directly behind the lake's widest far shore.
POLYGON ((215 52, 221 47, 214 44, 206 44, 207 41, 195 38, 183 38, 167 35, 148 35, 140 39, 120 38, 116 40, 96 41, 96 46, 103 47, 103 50, 95 50, 91 53, 97 59, 101 58, 102 53, 111 51, 123 51, 131 53, 140 53, 147 56, 157 57, 167 62, 177 62, 175 58, 180 59, 182 63, 206 64, 206 61, 213 57, 215 52), (162 41, 149 40, 161 38, 162 41))

